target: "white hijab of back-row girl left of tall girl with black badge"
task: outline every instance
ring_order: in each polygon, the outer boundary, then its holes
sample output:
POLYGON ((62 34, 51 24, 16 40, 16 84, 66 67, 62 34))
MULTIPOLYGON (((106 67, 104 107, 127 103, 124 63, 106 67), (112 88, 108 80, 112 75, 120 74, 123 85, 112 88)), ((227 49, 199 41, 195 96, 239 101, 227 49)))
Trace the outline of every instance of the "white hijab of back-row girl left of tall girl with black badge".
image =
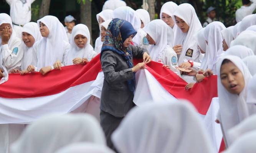
MULTIPOLYGON (((174 18, 174 15, 173 13, 175 12, 175 10, 177 9, 178 5, 174 2, 166 2, 164 3, 164 5, 162 6, 161 8, 161 11, 160 11, 160 19, 162 19, 162 14, 165 13, 165 14, 168 14, 169 16, 172 17, 172 20, 174 22, 174 26, 172 29, 173 31, 173 43, 171 44, 172 46, 173 45, 178 45, 178 44, 175 44, 175 34, 177 33, 177 30, 179 29, 179 27, 177 26, 177 24, 175 24, 175 18, 174 18)), ((172 35, 170 35, 170 37, 172 37, 172 35)))

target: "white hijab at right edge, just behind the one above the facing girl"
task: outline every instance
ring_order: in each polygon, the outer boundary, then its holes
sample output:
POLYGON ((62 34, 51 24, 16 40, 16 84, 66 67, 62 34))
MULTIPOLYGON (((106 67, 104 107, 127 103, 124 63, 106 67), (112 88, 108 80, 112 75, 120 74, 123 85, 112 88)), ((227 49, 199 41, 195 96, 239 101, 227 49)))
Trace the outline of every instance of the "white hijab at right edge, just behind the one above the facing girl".
POLYGON ((256 32, 254 31, 243 31, 231 42, 230 46, 243 45, 253 50, 256 54, 256 32))

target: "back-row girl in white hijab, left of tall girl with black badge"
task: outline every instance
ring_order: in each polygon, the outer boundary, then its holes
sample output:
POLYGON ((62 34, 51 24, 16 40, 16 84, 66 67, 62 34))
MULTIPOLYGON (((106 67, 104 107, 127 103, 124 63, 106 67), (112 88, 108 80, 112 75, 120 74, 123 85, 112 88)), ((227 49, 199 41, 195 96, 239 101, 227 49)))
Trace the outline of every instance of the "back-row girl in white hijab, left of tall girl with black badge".
MULTIPOLYGON (((161 8, 160 11, 160 19, 162 19, 170 28, 172 28, 173 32, 174 32, 174 41, 173 44, 171 44, 172 46, 174 46, 175 43, 175 34, 176 31, 178 29, 178 26, 175 24, 175 18, 173 16, 173 13, 175 12, 176 8, 178 7, 178 5, 174 2, 166 2, 164 3, 164 5, 161 8)), ((172 36, 170 36, 172 37, 172 36)), ((181 51, 182 48, 180 48, 179 51, 181 51)))

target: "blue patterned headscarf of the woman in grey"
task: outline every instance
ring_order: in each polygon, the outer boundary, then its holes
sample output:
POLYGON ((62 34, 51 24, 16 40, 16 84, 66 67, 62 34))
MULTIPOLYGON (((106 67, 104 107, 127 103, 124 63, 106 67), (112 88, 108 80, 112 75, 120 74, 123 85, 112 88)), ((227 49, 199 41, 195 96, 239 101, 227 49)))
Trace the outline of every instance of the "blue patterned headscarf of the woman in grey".
MULTIPOLYGON (((123 56, 129 68, 133 68, 131 60, 132 52, 128 47, 124 48, 123 43, 130 35, 135 34, 137 34, 137 32, 128 21, 119 18, 113 19, 107 27, 106 36, 101 49, 101 55, 104 51, 111 50, 112 52, 116 52, 123 56)), ((130 91, 133 92, 135 90, 135 73, 134 79, 128 80, 128 86, 130 91)))

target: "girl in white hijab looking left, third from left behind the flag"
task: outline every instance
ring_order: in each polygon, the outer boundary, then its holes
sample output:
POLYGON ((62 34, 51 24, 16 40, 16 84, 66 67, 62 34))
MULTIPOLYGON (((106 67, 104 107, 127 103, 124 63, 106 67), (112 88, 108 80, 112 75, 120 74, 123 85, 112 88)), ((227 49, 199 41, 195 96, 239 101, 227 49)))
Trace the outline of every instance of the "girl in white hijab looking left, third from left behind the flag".
POLYGON ((43 39, 33 46, 33 63, 29 65, 28 72, 39 71, 45 75, 53 69, 56 61, 63 62, 70 45, 63 24, 55 16, 47 15, 37 21, 43 39))

